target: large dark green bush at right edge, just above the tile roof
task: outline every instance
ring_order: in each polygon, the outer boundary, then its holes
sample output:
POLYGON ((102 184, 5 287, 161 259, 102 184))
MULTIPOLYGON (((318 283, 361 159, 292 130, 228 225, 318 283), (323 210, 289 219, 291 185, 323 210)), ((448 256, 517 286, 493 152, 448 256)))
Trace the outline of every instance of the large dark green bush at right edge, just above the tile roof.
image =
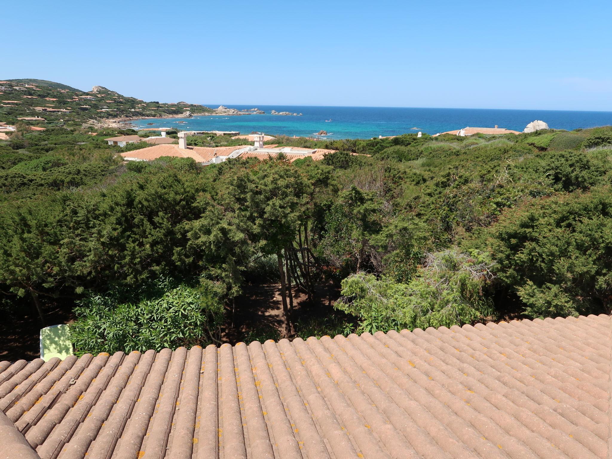
POLYGON ((609 187, 532 201, 484 233, 498 282, 532 317, 608 310, 612 298, 609 187))

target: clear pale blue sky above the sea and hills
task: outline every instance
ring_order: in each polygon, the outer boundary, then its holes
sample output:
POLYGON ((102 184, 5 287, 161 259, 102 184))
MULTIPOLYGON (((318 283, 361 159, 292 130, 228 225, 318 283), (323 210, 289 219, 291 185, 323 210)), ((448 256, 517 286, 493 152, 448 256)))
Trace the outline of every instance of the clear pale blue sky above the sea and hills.
POLYGON ((0 78, 144 100, 612 111, 608 1, 32 1, 0 78))

